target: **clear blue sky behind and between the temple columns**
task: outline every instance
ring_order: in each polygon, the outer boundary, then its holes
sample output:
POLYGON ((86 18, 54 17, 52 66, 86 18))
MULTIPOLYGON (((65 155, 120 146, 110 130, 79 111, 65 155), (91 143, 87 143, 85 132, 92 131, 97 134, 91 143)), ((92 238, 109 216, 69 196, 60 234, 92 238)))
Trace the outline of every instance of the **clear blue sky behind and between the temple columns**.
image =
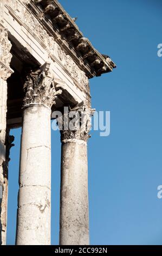
MULTIPOLYGON (((92 245, 162 245, 161 0, 60 0, 118 68, 90 80, 92 107, 111 111, 111 135, 88 142, 92 245)), ((15 242, 21 129, 12 130, 8 244, 15 242)), ((51 242, 59 242, 60 135, 52 137, 51 242)))

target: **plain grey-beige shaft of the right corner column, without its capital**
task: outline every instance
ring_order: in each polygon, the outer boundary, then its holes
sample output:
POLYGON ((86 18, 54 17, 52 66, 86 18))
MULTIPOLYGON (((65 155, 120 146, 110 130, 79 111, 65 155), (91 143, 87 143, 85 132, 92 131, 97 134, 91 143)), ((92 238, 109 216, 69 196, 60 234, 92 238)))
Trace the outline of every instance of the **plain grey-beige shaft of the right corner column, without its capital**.
POLYGON ((89 245, 87 143, 62 141, 60 245, 89 245))

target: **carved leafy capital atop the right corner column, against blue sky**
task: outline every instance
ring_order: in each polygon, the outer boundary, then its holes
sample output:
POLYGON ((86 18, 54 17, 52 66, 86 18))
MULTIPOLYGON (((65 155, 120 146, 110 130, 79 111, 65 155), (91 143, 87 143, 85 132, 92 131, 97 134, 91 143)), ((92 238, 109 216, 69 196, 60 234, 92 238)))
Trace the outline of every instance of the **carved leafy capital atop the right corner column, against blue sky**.
POLYGON ((80 139, 87 142, 90 138, 89 132, 92 126, 91 117, 95 109, 87 108, 85 105, 77 105, 74 108, 69 108, 68 113, 64 113, 63 117, 58 118, 60 127, 61 141, 72 139, 80 139), (75 118, 76 123, 73 122, 74 127, 70 129, 69 124, 75 118))

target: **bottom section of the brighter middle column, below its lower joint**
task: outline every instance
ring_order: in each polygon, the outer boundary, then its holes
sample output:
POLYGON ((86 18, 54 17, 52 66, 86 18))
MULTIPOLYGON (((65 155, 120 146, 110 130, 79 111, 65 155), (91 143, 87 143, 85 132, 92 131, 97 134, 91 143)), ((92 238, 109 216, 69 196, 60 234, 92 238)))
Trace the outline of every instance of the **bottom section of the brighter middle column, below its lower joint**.
POLYGON ((50 245, 50 190, 43 186, 20 188, 16 245, 50 245))

